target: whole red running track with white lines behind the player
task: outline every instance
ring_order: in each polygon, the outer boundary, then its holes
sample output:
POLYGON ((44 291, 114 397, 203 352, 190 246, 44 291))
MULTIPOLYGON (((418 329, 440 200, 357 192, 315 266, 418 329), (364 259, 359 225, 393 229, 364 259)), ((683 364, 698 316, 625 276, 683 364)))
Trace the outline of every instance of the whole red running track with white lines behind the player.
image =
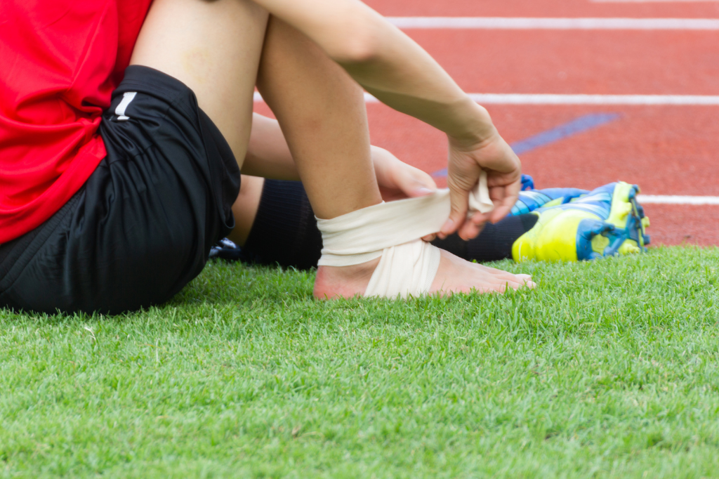
MULTIPOLYGON (((429 25, 403 29, 464 91, 518 94, 482 96, 491 99, 482 104, 538 188, 637 183, 645 195, 679 202, 645 204, 653 245, 719 244, 719 1, 367 4, 398 24, 429 25), (567 21, 551 19, 593 19, 583 24, 595 27, 577 27, 577 22, 561 27, 567 21), (646 19, 715 21, 699 29, 696 22, 674 22, 666 29, 661 27, 665 20, 647 24, 646 19), (470 27, 456 28, 467 22, 470 27), (554 104, 543 104, 547 94, 555 95, 554 104), (576 95, 594 97, 586 101, 576 95), (677 101, 684 104, 672 104, 677 101), (677 196, 708 197, 714 204, 690 205, 677 196)), ((368 102, 367 112, 375 145, 434 173, 444 185, 441 133, 376 102, 368 102)))

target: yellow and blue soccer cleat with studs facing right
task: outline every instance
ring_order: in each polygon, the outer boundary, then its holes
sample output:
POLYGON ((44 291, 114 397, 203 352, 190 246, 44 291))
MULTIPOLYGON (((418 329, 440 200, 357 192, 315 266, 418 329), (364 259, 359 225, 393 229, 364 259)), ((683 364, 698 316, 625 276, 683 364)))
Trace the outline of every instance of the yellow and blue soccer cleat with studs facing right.
POLYGON ((567 201, 557 199, 560 204, 546 203, 533 211, 539 219, 514 242, 512 257, 518 263, 582 261, 646 251, 649 218, 636 201, 638 192, 636 185, 609 183, 567 201))

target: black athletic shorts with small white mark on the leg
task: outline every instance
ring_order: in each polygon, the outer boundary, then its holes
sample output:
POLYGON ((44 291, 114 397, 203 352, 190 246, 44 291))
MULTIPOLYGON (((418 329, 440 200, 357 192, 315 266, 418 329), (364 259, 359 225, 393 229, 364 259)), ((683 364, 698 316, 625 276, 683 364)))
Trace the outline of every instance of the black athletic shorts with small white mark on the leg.
POLYGON ((117 314, 160 304, 234 227, 239 168, 183 83, 130 66, 99 133, 107 156, 81 190, 0 245, 0 306, 117 314))

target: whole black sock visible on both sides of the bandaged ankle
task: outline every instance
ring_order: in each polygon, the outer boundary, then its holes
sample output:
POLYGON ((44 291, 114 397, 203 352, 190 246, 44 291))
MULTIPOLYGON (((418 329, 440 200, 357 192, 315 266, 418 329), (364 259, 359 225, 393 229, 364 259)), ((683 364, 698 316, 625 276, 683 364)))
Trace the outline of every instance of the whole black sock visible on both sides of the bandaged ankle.
MULTIPOLYGON (((503 260, 512 257, 513 243, 536 221, 534 214, 508 216, 497 224, 485 224, 479 236, 470 241, 452 234, 432 244, 465 260, 503 260)), ((322 235, 302 183, 265 180, 255 223, 242 250, 256 263, 298 269, 317 265, 322 235)))

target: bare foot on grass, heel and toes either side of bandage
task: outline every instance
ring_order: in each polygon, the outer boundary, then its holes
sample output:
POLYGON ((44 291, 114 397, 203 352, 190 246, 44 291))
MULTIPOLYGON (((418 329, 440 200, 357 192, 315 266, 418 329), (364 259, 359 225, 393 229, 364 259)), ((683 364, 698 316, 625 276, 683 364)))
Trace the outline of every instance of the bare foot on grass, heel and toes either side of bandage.
MULTIPOLYGON (((515 275, 503 270, 488 268, 477 263, 470 263, 462 258, 441 250, 441 261, 437 275, 434 277, 429 294, 439 293, 449 296, 452 293, 503 292, 507 287, 518 289, 534 288, 530 275, 515 275)), ((320 299, 353 298, 362 296, 367 290, 372 273, 380 263, 380 258, 361 265, 320 266, 317 268, 314 296, 320 299)))

